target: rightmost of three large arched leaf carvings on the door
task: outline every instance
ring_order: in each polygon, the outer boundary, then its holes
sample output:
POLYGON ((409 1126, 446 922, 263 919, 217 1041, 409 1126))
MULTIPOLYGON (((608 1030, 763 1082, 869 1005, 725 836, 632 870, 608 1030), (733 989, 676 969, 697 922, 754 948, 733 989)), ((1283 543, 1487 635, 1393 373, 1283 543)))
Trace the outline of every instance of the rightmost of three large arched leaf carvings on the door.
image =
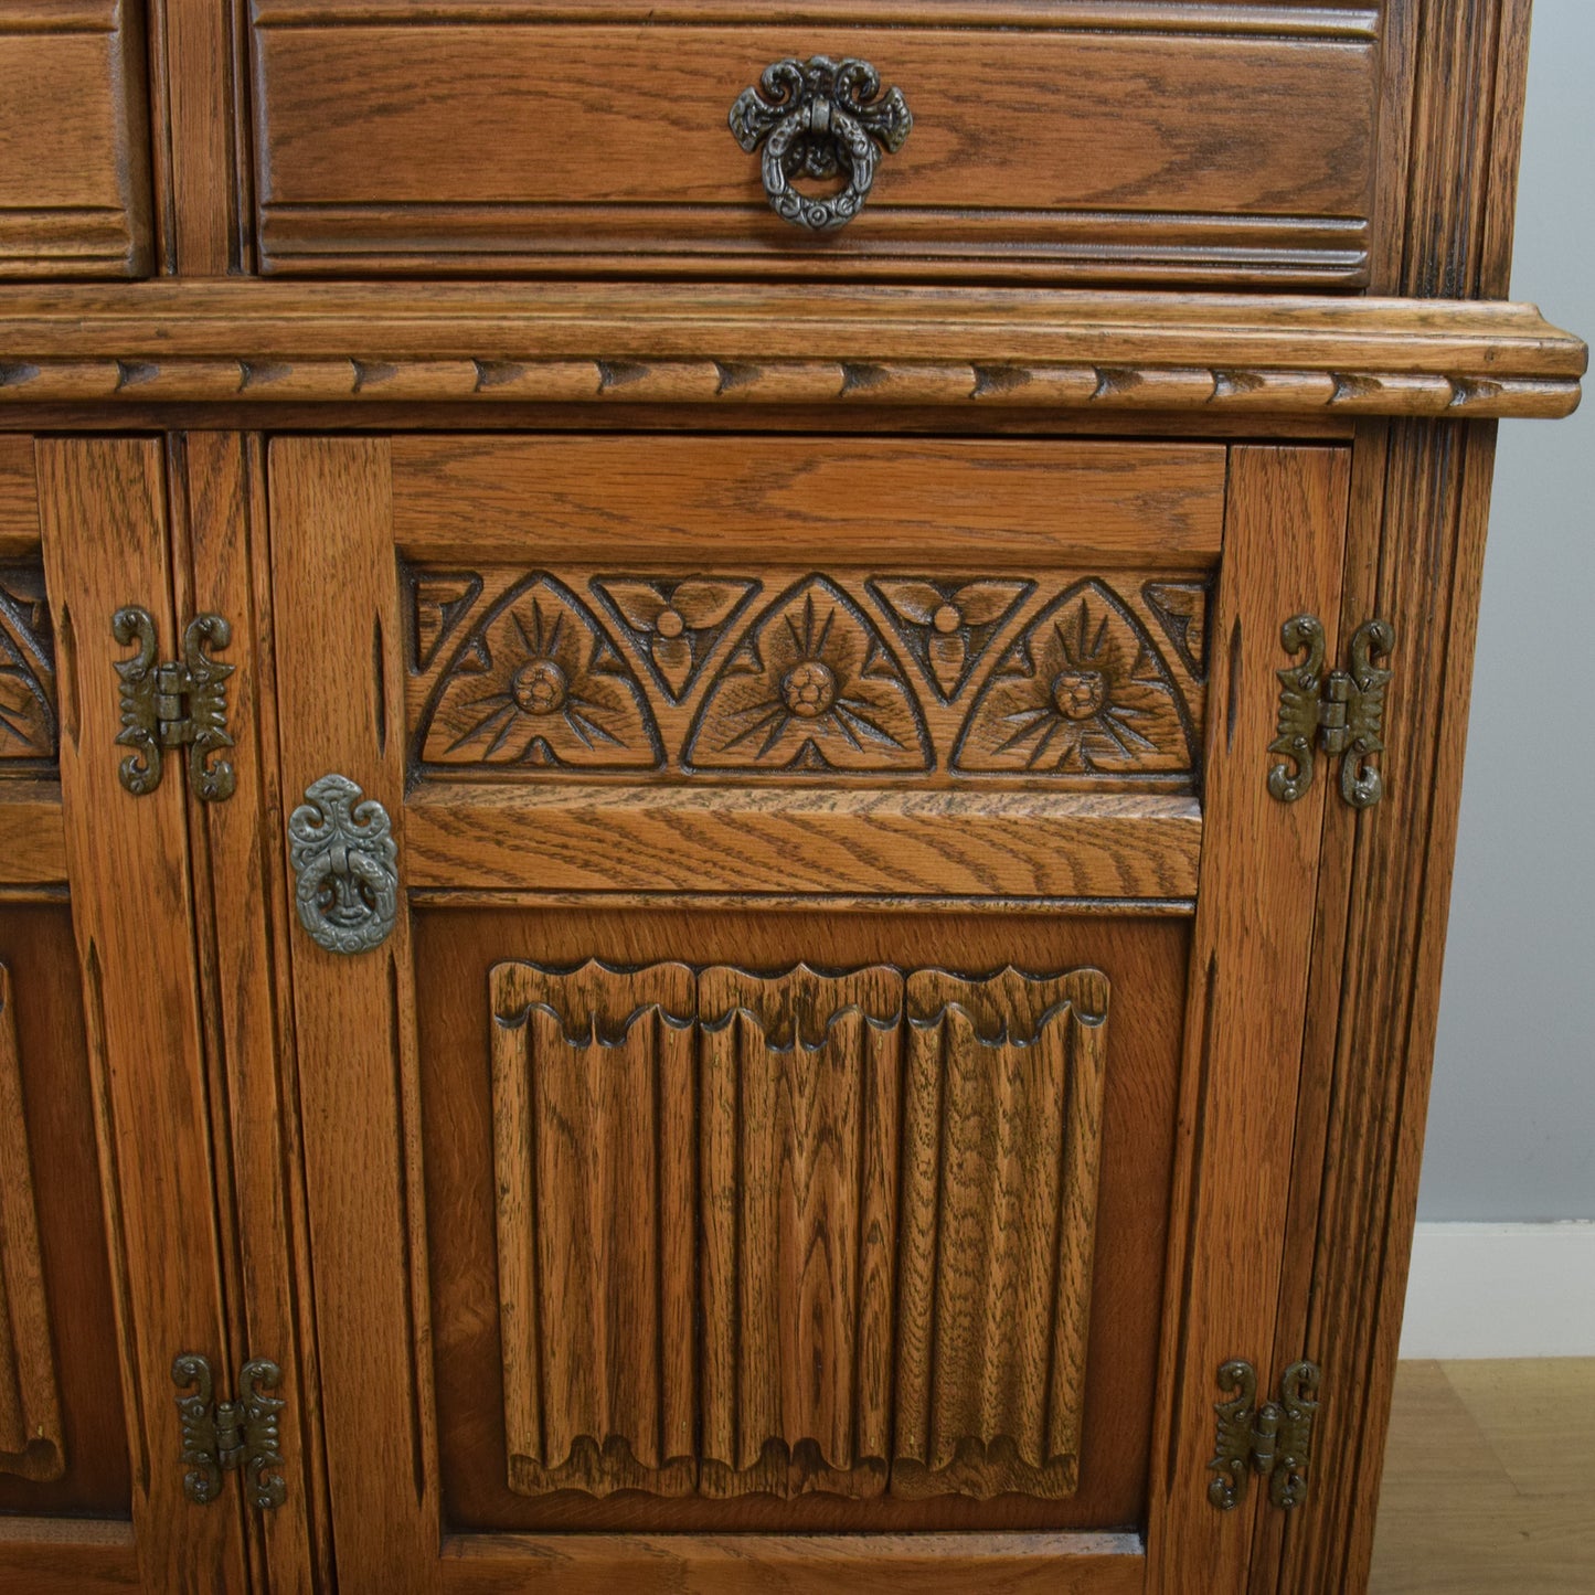
POLYGON ((1134 611, 1077 582, 1030 624, 986 683, 954 769, 1177 774, 1195 750, 1168 668, 1134 611))

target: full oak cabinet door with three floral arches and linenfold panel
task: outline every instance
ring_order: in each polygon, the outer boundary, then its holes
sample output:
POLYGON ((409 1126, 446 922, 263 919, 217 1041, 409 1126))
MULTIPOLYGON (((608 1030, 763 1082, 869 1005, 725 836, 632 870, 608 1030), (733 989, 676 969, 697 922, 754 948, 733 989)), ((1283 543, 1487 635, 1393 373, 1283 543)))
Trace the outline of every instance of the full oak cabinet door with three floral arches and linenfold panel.
POLYGON ((268 477, 345 1587, 1244 1589, 1346 451, 268 477))

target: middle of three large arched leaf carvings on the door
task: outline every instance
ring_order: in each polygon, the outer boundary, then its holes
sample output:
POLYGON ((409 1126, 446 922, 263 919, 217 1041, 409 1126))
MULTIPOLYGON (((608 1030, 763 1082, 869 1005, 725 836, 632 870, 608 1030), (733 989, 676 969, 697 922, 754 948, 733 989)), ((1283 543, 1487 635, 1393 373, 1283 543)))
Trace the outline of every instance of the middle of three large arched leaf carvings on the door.
POLYGON ((708 770, 928 770, 930 737, 903 667, 823 576, 775 600, 721 667, 687 740, 708 770))

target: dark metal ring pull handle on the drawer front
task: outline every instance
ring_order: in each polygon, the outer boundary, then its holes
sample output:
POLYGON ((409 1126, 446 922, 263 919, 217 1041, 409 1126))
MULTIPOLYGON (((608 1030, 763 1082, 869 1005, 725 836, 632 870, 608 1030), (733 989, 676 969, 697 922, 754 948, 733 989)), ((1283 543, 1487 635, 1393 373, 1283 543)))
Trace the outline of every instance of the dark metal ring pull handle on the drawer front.
POLYGON ((743 89, 731 107, 731 131, 750 155, 764 145, 764 191, 770 207, 794 226, 833 233, 845 226, 876 180, 876 144, 903 148, 914 118, 901 89, 880 93, 880 73, 868 61, 796 56, 764 69, 756 89, 743 89), (810 199, 794 177, 834 177, 847 187, 810 199))

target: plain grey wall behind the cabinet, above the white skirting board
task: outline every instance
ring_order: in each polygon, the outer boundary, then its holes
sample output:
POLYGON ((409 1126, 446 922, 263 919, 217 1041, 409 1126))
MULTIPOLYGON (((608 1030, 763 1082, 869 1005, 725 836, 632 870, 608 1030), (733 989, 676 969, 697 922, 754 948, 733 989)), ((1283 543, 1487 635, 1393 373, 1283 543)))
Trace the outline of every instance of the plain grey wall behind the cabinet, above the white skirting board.
MULTIPOLYGON (((1534 0, 1515 298, 1595 337, 1595 5, 1534 0)), ((1421 1219, 1595 1217, 1595 392, 1506 421, 1421 1219)))

